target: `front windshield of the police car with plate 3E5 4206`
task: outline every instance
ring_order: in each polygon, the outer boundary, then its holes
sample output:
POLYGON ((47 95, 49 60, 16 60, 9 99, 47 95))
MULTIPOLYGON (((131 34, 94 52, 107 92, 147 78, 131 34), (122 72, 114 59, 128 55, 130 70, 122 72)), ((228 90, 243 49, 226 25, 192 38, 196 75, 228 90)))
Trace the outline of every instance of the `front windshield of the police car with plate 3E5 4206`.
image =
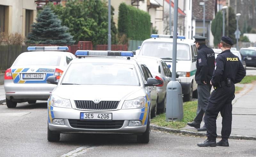
POLYGON ((119 63, 72 63, 62 84, 140 85, 134 65, 119 63))

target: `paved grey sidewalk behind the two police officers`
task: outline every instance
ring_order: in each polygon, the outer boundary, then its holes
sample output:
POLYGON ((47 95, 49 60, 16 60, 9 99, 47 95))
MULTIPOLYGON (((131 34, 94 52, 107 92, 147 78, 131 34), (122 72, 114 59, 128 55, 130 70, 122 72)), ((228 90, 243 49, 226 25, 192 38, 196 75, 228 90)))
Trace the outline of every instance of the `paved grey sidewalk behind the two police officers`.
MULTIPOLYGON (((232 130, 231 135, 250 136, 256 137, 256 82, 252 84, 237 84, 236 86, 244 86, 244 90, 236 94, 236 98, 232 101, 232 130)), ((216 125, 217 134, 221 135, 222 117, 219 114, 216 125)), ((204 122, 201 123, 201 127, 204 122)), ((195 128, 189 127, 188 125, 182 130, 197 131, 195 128)), ((206 131, 200 131, 206 133, 206 131)))

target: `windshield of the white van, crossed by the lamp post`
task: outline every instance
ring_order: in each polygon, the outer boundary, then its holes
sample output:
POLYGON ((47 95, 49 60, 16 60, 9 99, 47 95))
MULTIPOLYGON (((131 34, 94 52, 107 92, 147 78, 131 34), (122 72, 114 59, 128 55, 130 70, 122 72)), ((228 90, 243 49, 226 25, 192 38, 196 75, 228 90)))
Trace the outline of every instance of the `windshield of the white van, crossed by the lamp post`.
MULTIPOLYGON (((143 56, 172 59, 172 43, 169 42, 145 42, 140 50, 143 56)), ((177 43, 177 60, 190 60, 189 46, 177 43)))

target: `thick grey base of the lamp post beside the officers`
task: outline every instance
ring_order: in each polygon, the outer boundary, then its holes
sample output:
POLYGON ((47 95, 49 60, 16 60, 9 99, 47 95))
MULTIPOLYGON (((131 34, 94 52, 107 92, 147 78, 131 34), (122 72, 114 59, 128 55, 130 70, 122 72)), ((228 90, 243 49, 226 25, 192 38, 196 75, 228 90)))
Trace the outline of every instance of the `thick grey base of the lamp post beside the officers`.
POLYGON ((166 121, 182 120, 182 89, 178 81, 170 81, 166 87, 166 121))

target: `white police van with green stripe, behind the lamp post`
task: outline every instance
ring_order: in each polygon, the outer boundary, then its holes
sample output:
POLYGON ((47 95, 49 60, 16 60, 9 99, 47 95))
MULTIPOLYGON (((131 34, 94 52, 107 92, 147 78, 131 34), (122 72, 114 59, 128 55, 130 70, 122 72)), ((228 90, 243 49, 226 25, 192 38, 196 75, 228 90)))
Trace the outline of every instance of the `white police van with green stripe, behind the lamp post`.
MULTIPOLYGON (((172 35, 152 34, 150 39, 143 41, 138 55, 158 57, 167 65, 172 65, 172 43, 172 35)), ((196 57, 197 49, 194 40, 178 35, 176 71, 179 78, 176 80, 181 84, 184 101, 191 101, 192 97, 197 98, 196 57)))

